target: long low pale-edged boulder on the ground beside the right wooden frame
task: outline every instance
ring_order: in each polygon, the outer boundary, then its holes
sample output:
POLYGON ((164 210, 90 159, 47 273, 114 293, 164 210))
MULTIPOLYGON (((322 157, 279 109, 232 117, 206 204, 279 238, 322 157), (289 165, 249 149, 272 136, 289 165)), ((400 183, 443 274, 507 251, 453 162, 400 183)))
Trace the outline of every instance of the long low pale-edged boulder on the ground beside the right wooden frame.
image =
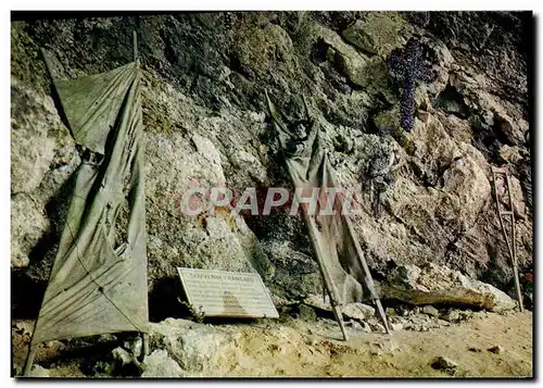
MULTIPOLYGON (((460 304, 495 312, 513 310, 517 305, 497 288, 432 263, 422 268, 416 265, 399 266, 381 283, 380 289, 383 296, 419 305, 460 304)), ((422 312, 439 315, 431 305, 426 305, 422 312)))

